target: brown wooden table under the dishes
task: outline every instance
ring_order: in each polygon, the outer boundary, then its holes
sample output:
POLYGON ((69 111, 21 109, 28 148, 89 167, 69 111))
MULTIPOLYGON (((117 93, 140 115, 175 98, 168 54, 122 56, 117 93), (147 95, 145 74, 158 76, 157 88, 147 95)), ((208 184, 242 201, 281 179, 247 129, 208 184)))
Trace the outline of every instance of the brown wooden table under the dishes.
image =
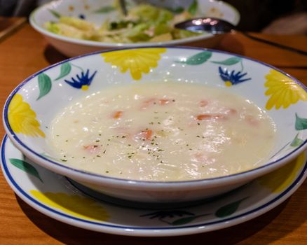
MULTIPOLYGON (((269 36, 271 41, 306 50, 306 36, 269 36)), ((307 85, 307 57, 228 34, 217 47, 283 69, 307 85)), ((0 42, 0 103, 22 80, 65 59, 29 25, 0 42)), ((0 127, 0 134, 4 129, 0 127)), ((140 238, 107 235, 75 228, 29 207, 0 174, 0 244, 307 244, 307 181, 286 202, 252 221, 186 237, 140 238)))

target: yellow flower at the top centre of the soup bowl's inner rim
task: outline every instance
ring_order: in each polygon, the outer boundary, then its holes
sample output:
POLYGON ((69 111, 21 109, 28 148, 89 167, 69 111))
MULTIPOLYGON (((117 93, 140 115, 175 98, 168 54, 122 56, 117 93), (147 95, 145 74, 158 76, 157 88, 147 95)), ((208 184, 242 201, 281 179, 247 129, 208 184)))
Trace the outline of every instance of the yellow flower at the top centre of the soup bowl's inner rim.
POLYGON ((139 80, 142 73, 149 73, 151 68, 158 66, 160 54, 165 51, 166 48, 137 48, 103 52, 101 55, 105 62, 120 67, 122 73, 130 70, 132 78, 139 80))

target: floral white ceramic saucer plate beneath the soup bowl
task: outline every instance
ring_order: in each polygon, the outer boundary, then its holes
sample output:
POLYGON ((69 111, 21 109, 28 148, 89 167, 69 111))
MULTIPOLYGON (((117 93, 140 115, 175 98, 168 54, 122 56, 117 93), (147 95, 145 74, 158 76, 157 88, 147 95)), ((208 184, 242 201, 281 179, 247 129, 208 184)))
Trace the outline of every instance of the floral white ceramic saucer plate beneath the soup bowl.
POLYGON ((79 228, 139 237, 190 235, 249 221, 285 201, 307 176, 303 153, 289 165, 203 204, 180 209, 130 209, 90 198, 63 176, 25 160, 8 137, 2 143, 1 159, 11 188, 46 216, 79 228))

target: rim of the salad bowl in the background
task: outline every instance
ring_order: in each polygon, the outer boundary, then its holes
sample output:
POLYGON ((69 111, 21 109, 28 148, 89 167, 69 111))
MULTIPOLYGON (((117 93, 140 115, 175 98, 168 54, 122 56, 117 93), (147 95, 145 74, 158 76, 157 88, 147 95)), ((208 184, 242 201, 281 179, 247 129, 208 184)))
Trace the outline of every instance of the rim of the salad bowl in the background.
MULTIPOLYGON (((194 41, 200 41, 200 40, 204 40, 204 39, 207 39, 207 38, 212 38, 214 36, 212 34, 203 34, 203 35, 200 35, 200 36, 191 36, 191 37, 188 37, 188 38, 181 38, 181 39, 175 39, 175 40, 171 40, 171 41, 162 41, 162 42, 155 42, 155 43, 152 43, 152 42, 104 43, 104 42, 100 42, 100 41, 90 41, 90 40, 83 40, 83 39, 78 39, 78 38, 71 38, 71 37, 67 37, 67 36, 62 36, 62 35, 59 35, 59 34, 54 34, 53 32, 48 31, 45 28, 41 27, 41 25, 39 25, 36 22, 36 19, 35 19, 36 13, 38 13, 40 10, 42 10, 43 8, 47 8, 48 6, 52 6, 53 3, 60 2, 60 1, 62 1, 62 0, 53 0, 53 1, 50 1, 48 3, 44 3, 43 5, 35 8, 32 11, 32 13, 30 13, 30 15, 29 15, 29 22, 30 22, 30 25, 32 25, 32 27, 34 29, 36 29, 36 31, 39 31, 41 34, 48 36, 50 38, 55 38, 59 41, 67 42, 67 43, 74 43, 74 44, 77 44, 77 45, 88 45, 88 46, 91 46, 91 47, 100 47, 100 48, 116 48, 116 47, 121 48, 121 47, 139 47, 139 46, 147 47, 147 46, 151 46, 151 45, 177 45, 177 44, 180 45, 180 44, 184 44, 184 43, 191 43, 191 42, 194 42, 194 41)), ((233 10, 233 13, 236 15, 233 24, 235 26, 238 25, 238 23, 240 22, 240 13, 234 6, 232 6, 231 4, 226 3, 224 1, 218 1, 218 0, 208 0, 208 1, 214 1, 214 2, 217 2, 220 5, 225 5, 225 6, 228 6, 229 8, 231 8, 231 10, 233 10)))

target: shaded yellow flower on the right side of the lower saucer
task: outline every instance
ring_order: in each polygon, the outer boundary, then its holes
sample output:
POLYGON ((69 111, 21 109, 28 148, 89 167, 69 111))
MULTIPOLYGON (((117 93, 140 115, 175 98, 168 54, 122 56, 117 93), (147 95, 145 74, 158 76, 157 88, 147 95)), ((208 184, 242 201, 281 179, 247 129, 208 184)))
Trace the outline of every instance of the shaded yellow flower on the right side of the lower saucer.
POLYGON ((289 162, 287 165, 270 174, 262 176, 258 181, 261 186, 270 189, 272 193, 281 193, 291 185, 304 163, 305 153, 301 153, 296 160, 289 162))

